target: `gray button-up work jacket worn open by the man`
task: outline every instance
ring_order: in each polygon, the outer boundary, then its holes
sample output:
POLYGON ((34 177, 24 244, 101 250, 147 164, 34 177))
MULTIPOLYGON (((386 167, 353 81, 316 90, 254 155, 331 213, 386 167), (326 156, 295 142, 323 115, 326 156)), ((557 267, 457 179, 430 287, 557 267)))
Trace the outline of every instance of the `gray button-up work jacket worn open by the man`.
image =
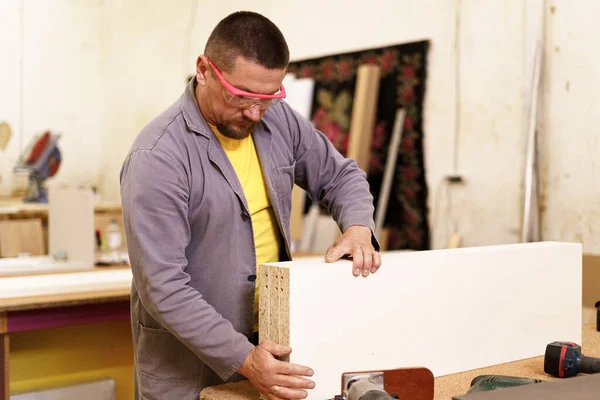
MULTIPOLYGON (((255 129, 269 197, 290 260, 294 183, 328 207, 342 231, 372 231, 365 174, 285 102, 255 129)), ((133 270, 136 399, 198 399, 235 381, 252 349, 256 260, 248 205, 194 94, 137 136, 121 169, 123 221, 133 270)), ((375 239, 373 238, 374 243, 375 239)))

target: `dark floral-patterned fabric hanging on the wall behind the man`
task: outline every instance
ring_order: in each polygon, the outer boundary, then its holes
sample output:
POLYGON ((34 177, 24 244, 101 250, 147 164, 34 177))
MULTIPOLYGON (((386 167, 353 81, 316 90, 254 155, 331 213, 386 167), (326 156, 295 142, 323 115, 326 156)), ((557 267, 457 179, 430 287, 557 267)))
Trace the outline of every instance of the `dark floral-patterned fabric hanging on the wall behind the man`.
POLYGON ((381 67, 368 180, 375 205, 379 198, 396 109, 406 120, 386 211, 387 248, 429 248, 427 185, 423 160, 423 98, 428 41, 400 44, 290 63, 289 72, 315 79, 312 122, 342 153, 348 148, 356 72, 360 64, 381 67))

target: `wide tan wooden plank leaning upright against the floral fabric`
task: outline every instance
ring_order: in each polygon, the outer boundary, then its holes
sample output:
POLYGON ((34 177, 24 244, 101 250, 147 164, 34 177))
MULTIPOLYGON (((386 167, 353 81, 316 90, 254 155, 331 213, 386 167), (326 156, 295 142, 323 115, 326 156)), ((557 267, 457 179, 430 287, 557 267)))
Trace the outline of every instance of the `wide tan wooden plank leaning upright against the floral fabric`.
POLYGON ((371 159, 380 78, 381 69, 377 65, 364 64, 359 66, 356 72, 347 156, 353 158, 358 167, 365 172, 369 171, 371 159))

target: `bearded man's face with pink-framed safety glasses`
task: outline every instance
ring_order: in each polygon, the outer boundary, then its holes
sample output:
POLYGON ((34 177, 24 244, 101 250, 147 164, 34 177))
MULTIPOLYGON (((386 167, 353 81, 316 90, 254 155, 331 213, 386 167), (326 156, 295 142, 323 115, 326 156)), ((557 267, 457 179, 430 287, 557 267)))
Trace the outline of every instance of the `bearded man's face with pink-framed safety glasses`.
POLYGON ((285 68, 267 69, 242 57, 238 57, 235 69, 231 72, 220 71, 219 66, 211 65, 206 57, 201 57, 199 63, 204 64, 202 69, 205 71, 205 89, 202 98, 199 99, 209 113, 205 117, 227 137, 248 137, 268 109, 270 100, 234 96, 232 90, 239 89, 260 95, 278 93, 285 76, 285 68), (219 79, 219 73, 224 83, 219 79))

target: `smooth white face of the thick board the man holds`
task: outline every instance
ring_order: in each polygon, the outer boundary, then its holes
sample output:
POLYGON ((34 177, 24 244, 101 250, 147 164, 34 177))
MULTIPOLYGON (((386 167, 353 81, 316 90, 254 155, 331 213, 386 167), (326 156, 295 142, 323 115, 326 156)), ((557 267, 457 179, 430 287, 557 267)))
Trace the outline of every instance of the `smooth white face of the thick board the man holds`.
POLYGON ((581 249, 384 252, 367 279, 346 260, 261 269, 289 271, 289 332, 279 335, 289 334, 291 362, 315 370, 308 398, 324 399, 348 370, 423 366, 440 376, 539 356, 557 338, 581 343, 581 249))

